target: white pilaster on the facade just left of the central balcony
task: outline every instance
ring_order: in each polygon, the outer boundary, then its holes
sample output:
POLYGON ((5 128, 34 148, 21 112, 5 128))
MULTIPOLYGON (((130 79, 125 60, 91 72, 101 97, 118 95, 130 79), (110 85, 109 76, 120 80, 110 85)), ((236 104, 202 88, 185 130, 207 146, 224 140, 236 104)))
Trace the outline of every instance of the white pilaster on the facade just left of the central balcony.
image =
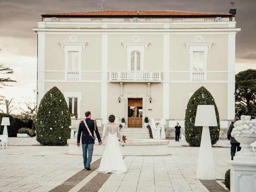
POLYGON ((102 34, 101 118, 108 119, 108 35, 102 34))

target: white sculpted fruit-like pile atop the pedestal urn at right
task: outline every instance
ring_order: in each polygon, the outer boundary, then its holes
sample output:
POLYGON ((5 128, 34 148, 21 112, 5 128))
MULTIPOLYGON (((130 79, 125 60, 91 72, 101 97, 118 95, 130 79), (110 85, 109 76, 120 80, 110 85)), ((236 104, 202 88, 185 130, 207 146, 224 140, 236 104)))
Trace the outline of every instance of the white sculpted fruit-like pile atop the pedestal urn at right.
POLYGON ((256 122, 250 120, 251 116, 241 116, 241 120, 234 122, 231 136, 256 137, 256 122))

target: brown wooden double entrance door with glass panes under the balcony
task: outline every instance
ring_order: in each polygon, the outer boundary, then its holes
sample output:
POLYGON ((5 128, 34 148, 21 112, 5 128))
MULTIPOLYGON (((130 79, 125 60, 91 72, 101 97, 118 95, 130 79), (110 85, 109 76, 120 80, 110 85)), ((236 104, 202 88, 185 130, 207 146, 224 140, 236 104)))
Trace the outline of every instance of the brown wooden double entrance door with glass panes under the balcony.
POLYGON ((128 127, 142 127, 142 98, 128 98, 128 127))

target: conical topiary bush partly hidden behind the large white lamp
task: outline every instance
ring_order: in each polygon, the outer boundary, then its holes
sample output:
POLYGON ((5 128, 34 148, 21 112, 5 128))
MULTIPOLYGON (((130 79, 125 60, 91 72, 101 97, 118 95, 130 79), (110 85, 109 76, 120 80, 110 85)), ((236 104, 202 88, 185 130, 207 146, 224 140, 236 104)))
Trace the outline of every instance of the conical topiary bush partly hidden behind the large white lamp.
POLYGON ((219 140, 220 134, 220 117, 218 108, 214 102, 214 98, 212 94, 204 88, 203 86, 200 87, 194 94, 191 96, 190 100, 188 101, 188 105, 186 108, 186 115, 185 115, 185 137, 186 142, 190 146, 200 146, 201 136, 202 136, 202 127, 194 126, 195 119, 196 119, 196 110, 198 105, 214 105, 217 124, 216 127, 209 127, 210 130, 210 137, 212 145, 215 144, 219 140))

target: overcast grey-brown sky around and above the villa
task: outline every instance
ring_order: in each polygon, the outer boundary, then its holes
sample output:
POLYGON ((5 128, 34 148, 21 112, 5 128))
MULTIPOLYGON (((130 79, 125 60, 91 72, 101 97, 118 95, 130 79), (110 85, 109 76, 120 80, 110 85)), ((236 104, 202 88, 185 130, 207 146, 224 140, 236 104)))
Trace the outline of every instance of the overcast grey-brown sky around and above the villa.
MULTIPOLYGON (((226 12, 231 0, 105 0, 104 9, 111 10, 183 10, 226 12)), ((0 89, 0 95, 33 98, 36 88, 37 38, 32 31, 41 14, 100 10, 102 0, 0 0, 0 63, 14 70, 17 83, 0 89)), ((235 0, 236 72, 256 69, 256 0, 235 0), (254 13, 254 14, 253 14, 254 13)), ((0 107, 2 108, 2 107, 0 107)))

